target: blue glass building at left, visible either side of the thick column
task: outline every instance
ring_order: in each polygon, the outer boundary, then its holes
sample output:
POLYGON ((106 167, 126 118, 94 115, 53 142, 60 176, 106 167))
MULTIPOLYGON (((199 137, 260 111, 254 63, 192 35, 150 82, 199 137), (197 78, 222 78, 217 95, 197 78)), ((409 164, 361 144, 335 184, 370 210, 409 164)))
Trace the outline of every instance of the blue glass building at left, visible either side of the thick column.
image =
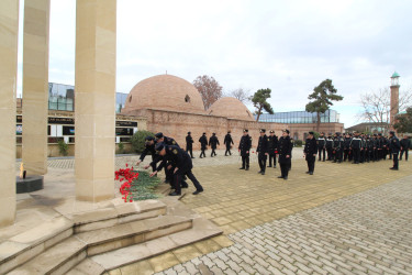
MULTIPOLYGON (((115 112, 120 113, 126 102, 127 94, 115 94, 115 112)), ((75 111, 75 86, 48 84, 48 110, 75 111)))

